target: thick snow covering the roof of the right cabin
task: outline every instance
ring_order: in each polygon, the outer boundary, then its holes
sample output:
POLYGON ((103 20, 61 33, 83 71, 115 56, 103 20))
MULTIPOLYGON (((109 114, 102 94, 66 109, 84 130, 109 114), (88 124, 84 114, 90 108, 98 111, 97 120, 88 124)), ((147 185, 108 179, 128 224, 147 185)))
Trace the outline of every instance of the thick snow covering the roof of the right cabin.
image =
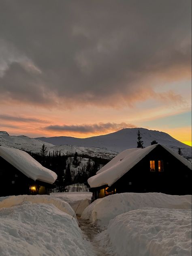
MULTIPOLYGON (((146 148, 131 148, 122 151, 114 157, 109 163, 103 166, 96 175, 88 179, 90 187, 100 187, 103 185, 113 185, 118 179, 120 179, 126 172, 128 172, 133 166, 135 166, 143 157, 151 152, 156 146, 160 144, 154 144, 146 148)), ((181 161, 188 168, 192 168, 191 163, 181 155, 175 153, 170 148, 161 145, 179 161, 181 161)))

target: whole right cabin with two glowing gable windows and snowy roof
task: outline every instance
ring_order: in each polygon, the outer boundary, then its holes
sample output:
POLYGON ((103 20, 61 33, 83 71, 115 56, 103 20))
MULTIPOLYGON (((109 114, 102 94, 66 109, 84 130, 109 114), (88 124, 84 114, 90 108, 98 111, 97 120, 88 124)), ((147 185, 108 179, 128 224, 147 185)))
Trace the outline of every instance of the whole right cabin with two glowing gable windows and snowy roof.
POLYGON ((124 192, 191 194, 192 165, 166 146, 127 149, 88 179, 93 200, 124 192))

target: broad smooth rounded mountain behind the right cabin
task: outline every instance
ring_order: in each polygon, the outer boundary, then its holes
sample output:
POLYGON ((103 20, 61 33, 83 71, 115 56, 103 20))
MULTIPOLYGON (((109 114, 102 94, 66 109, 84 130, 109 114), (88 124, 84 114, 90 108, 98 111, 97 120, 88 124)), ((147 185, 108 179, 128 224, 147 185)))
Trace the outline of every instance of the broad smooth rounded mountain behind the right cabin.
MULTIPOLYGON (((159 144, 172 148, 176 152, 178 152, 178 148, 181 148, 183 156, 191 157, 191 146, 174 139, 168 133, 148 130, 145 128, 139 128, 139 130, 141 132, 143 146, 147 147, 151 145, 152 140, 156 140, 159 144)), ((41 137, 37 139, 54 145, 70 144, 83 147, 95 146, 119 153, 125 149, 137 147, 137 131, 138 128, 126 128, 114 133, 84 139, 66 136, 50 138, 41 137)))

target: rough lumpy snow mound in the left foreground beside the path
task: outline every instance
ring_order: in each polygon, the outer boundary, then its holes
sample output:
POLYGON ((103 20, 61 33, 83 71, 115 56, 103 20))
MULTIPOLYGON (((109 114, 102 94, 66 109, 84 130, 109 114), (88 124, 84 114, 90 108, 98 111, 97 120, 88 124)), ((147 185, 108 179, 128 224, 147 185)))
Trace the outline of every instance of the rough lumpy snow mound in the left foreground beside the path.
POLYGON ((0 208, 0 255, 90 256, 75 218, 52 204, 0 208))

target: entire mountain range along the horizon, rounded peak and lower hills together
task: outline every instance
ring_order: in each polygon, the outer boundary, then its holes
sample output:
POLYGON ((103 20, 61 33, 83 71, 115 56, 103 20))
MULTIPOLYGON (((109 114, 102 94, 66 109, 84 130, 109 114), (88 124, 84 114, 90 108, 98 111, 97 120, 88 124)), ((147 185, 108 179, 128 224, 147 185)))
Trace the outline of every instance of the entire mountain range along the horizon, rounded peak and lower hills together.
POLYGON ((181 148, 184 157, 191 159, 192 148, 163 131, 145 128, 124 128, 119 131, 89 138, 75 138, 68 136, 30 138, 28 136, 9 136, 6 131, 0 131, 0 144, 26 151, 40 152, 42 145, 47 146, 48 152, 61 151, 64 154, 87 154, 90 156, 111 159, 117 153, 137 147, 137 131, 141 132, 143 146, 151 145, 156 140, 159 144, 168 146, 178 153, 181 148))

